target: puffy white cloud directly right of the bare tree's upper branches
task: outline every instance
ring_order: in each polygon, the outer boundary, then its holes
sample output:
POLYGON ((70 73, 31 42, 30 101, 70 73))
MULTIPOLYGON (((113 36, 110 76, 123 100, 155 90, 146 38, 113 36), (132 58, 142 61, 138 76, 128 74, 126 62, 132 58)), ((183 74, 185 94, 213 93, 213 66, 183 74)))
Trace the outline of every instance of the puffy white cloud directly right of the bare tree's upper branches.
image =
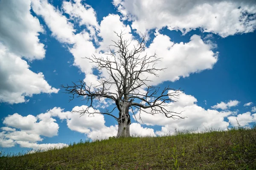
POLYGON ((147 54, 154 54, 162 58, 157 68, 167 68, 160 71, 159 77, 149 76, 153 84, 163 81, 176 81, 180 77, 189 77, 205 69, 212 69, 218 60, 218 53, 211 50, 211 45, 204 43, 198 35, 193 35, 189 42, 174 43, 163 34, 158 34, 150 46, 145 50, 147 54))

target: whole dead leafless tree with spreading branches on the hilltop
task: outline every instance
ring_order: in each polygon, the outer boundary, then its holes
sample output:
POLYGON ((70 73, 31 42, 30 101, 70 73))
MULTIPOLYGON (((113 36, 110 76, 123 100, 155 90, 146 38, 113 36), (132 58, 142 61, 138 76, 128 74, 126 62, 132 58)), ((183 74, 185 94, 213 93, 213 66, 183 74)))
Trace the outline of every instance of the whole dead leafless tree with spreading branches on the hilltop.
MULTIPOLYGON (((180 116, 181 112, 167 110, 169 103, 175 102, 175 99, 178 98, 180 89, 166 87, 160 91, 159 87, 148 85, 151 80, 145 75, 151 74, 158 77, 157 72, 163 71, 165 68, 156 68, 156 63, 160 61, 156 54, 140 56, 145 51, 145 37, 131 48, 129 46, 131 41, 123 38, 124 33, 116 33, 116 35, 119 40, 113 41, 113 45, 110 45, 110 53, 107 54, 107 57, 96 57, 95 55, 85 57, 91 63, 96 64, 94 69, 107 71, 108 78, 101 77, 98 80, 98 85, 87 85, 83 80, 73 82, 71 86, 61 85, 66 93, 71 94, 70 100, 73 100, 75 96, 83 96, 84 100, 87 100, 87 104, 89 103, 86 109, 77 112, 81 116, 95 113, 112 116, 119 125, 116 137, 130 136, 129 110, 133 114, 136 110, 140 114, 142 111, 152 115, 163 113, 167 118, 184 119, 180 116), (142 89, 144 89, 144 93, 141 92, 142 89), (100 99, 111 100, 115 105, 113 110, 96 111, 93 104, 96 102, 95 100, 100 99), (93 112, 90 108, 93 108, 93 112), (116 108, 119 111, 118 116, 113 114, 116 108)), ((136 116, 135 119, 137 120, 136 116)))

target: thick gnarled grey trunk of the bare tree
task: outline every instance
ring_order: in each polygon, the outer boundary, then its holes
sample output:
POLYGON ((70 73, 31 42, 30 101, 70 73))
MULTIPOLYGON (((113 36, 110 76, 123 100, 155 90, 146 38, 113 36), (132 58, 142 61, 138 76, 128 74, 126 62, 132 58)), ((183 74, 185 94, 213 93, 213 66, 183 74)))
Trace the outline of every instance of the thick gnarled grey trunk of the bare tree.
POLYGON ((131 118, 129 115, 128 102, 122 102, 120 105, 119 119, 118 119, 118 132, 116 138, 130 137, 131 118))

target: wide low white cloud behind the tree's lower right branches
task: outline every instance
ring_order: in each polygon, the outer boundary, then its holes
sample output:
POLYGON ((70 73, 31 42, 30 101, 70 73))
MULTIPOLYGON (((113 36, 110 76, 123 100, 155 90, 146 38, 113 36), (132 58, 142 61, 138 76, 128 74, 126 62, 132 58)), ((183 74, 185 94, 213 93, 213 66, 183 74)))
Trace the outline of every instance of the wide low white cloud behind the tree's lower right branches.
MULTIPOLYGON (((178 130, 206 130, 205 128, 225 129, 229 125, 228 122, 224 121, 224 118, 232 114, 231 111, 219 112, 211 109, 205 110, 196 105, 196 102, 197 99, 195 99, 194 96, 181 92, 177 102, 169 103, 166 109, 177 113, 183 111, 180 116, 187 118, 174 120, 166 118, 164 114, 151 115, 143 112, 141 113, 141 118, 146 125, 162 126, 162 130, 156 132, 157 135, 174 132, 175 128, 178 130)), ((139 112, 135 115, 138 119, 139 112)), ((142 122, 140 121, 140 123, 142 122)))

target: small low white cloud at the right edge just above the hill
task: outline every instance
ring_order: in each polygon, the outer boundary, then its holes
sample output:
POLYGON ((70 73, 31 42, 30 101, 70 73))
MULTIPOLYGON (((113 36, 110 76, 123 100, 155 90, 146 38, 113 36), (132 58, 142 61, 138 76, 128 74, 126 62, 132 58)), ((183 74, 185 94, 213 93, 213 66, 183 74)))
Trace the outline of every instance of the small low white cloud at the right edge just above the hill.
POLYGON ((232 126, 237 126, 237 121, 239 125, 246 126, 251 122, 256 122, 256 113, 251 114, 250 112, 246 112, 237 116, 230 116, 227 119, 232 126))

